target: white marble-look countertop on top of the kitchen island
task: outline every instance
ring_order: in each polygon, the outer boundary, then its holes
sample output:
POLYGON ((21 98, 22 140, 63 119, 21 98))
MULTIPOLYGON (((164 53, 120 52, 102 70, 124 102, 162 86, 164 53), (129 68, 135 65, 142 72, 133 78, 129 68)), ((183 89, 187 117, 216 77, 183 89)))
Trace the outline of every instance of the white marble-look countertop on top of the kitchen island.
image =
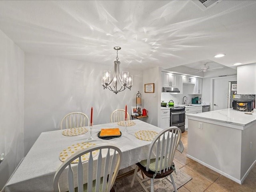
POLYGON ((186 114, 186 116, 188 119, 201 118, 238 126, 248 126, 249 124, 256 123, 256 113, 245 114, 245 112, 233 110, 232 108, 197 114, 186 114))

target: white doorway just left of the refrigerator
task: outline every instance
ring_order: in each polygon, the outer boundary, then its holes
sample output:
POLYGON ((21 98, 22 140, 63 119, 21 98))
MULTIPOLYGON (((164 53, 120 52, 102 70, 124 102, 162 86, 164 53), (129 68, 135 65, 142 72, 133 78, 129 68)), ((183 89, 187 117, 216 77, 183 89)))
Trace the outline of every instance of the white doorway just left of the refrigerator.
POLYGON ((216 77, 211 79, 211 110, 228 108, 228 82, 236 81, 236 76, 216 77))

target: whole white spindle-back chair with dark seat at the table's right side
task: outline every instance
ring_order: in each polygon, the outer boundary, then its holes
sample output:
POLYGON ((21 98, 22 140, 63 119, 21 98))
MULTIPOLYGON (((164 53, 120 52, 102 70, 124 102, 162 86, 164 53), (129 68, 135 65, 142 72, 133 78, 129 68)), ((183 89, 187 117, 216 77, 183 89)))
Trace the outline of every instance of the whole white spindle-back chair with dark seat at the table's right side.
POLYGON ((136 178, 144 191, 148 192, 147 188, 150 186, 150 192, 154 192, 154 179, 166 178, 172 183, 175 192, 177 192, 172 172, 175 171, 173 159, 180 138, 181 130, 175 126, 166 128, 158 133, 150 144, 148 158, 136 163, 137 166, 134 170, 131 187, 136 178), (138 168, 140 168, 148 178, 140 179, 137 174, 138 168), (169 175, 171 180, 167 177, 169 175), (144 181, 148 181, 149 179, 150 185, 144 185, 144 181))

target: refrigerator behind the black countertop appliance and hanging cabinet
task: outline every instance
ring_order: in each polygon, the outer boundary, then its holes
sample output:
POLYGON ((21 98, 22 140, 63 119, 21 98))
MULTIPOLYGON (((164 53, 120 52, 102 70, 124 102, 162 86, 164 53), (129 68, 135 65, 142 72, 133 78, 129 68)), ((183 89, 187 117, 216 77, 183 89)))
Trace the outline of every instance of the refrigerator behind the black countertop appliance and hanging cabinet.
POLYGON ((255 95, 239 95, 237 94, 237 82, 228 82, 228 108, 233 108, 232 104, 234 100, 250 101, 255 100, 255 95))

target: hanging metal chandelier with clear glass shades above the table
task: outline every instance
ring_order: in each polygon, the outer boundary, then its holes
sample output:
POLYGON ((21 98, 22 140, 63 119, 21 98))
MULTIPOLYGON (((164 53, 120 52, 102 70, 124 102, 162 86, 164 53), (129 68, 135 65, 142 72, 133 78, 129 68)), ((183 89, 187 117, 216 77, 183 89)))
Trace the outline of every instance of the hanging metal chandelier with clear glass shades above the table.
POLYGON ((122 77, 120 76, 119 66, 120 61, 118 61, 118 50, 120 50, 121 47, 114 47, 114 50, 116 50, 116 61, 114 61, 115 67, 114 67, 114 75, 111 79, 110 77, 110 71, 104 71, 103 76, 101 78, 101 83, 104 89, 108 88, 110 91, 114 92, 115 94, 125 90, 126 88, 131 90, 132 87, 132 75, 129 75, 128 71, 122 72, 122 77), (111 80, 110 80, 111 79, 111 80), (121 84, 120 88, 117 88, 117 82, 121 84))

